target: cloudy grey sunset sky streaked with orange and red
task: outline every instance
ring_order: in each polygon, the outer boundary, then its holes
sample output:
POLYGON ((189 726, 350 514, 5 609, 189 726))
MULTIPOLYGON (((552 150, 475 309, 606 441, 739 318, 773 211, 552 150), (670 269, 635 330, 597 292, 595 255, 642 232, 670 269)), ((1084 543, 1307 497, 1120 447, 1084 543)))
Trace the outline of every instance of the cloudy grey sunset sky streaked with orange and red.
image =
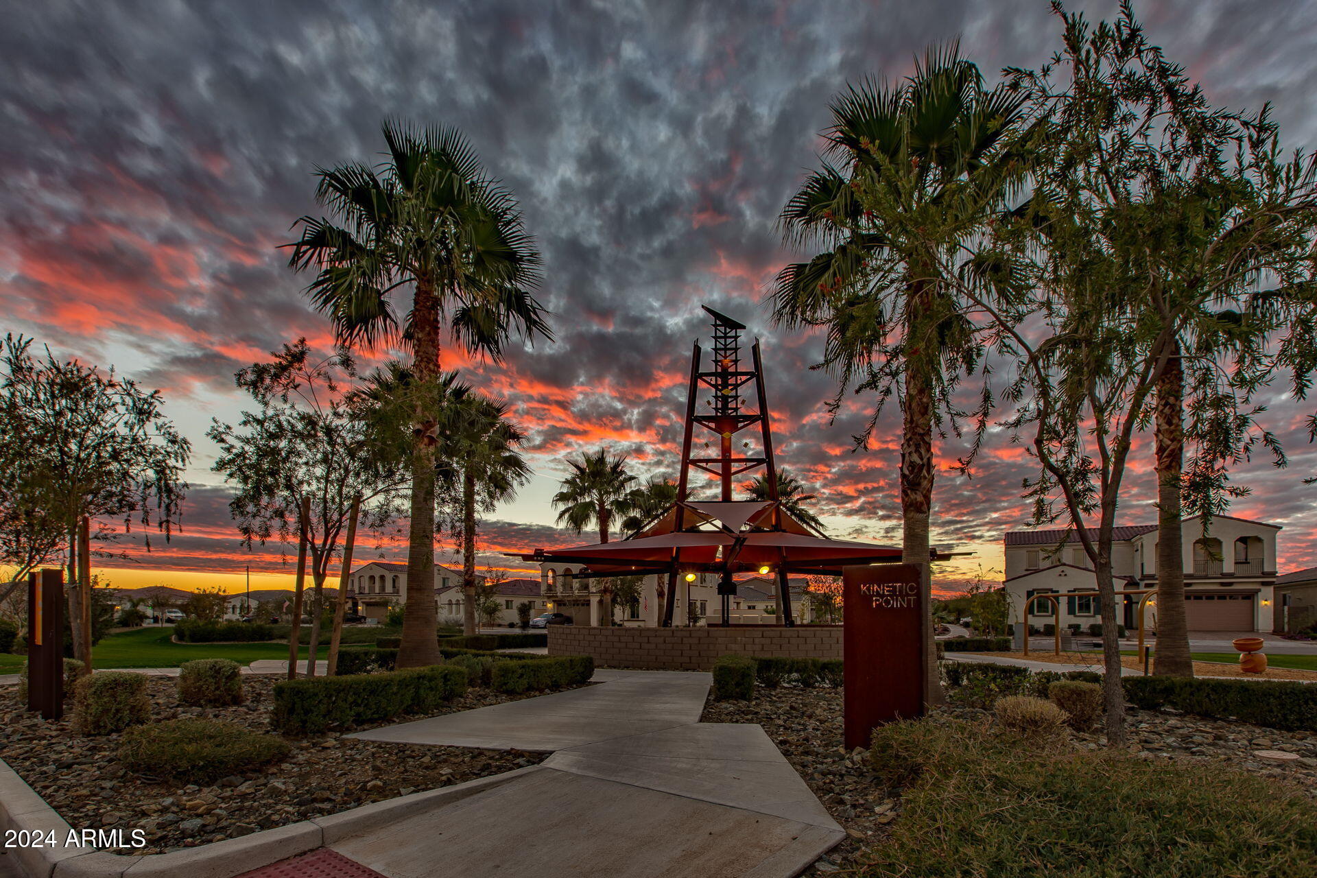
MULTIPOLYGON (((183 530, 125 536, 103 561, 113 584, 242 586, 291 581, 292 552, 246 549, 211 471, 212 417, 245 400, 233 373, 332 330, 278 246, 319 215, 316 166, 379 161, 379 124, 453 125, 514 192, 544 258, 552 342, 515 348, 466 376, 507 399, 529 433, 535 477, 482 521, 482 563, 570 545, 549 498, 564 458, 607 446, 640 477, 676 471, 701 304, 749 325, 764 348, 780 466, 818 494, 838 536, 900 542, 900 416, 868 450, 851 437, 872 400, 811 370, 822 338, 774 328, 763 294, 809 254, 774 226, 818 166, 827 103, 864 76, 900 79, 930 43, 959 39, 989 79, 1055 51, 1039 0, 807 3, 253 3, 179 0, 5 4, 0 29, 0 332, 36 337, 159 388, 192 441, 183 530)), ((1110 16, 1114 3, 1072 8, 1110 16)), ((1137 3, 1152 39, 1218 105, 1274 104, 1284 142, 1312 149, 1317 4, 1137 3)), ((377 357, 387 351, 377 351, 377 357)), ((464 365, 453 355, 448 366, 464 365)), ((1231 513, 1284 525, 1280 570, 1317 565, 1313 405, 1275 387, 1264 423, 1289 467, 1266 459, 1234 479, 1231 513)), ((248 403, 249 404, 249 403, 248 403)), ((1027 524, 1033 467, 994 428, 972 478, 939 442, 935 545, 969 552, 935 571, 955 590, 1000 578, 1001 540, 1027 524)), ((1155 521, 1152 457, 1141 438, 1121 523, 1155 521)), ((444 548, 444 544, 441 544, 444 548)), ((399 558, 389 534, 361 562, 399 558)))

